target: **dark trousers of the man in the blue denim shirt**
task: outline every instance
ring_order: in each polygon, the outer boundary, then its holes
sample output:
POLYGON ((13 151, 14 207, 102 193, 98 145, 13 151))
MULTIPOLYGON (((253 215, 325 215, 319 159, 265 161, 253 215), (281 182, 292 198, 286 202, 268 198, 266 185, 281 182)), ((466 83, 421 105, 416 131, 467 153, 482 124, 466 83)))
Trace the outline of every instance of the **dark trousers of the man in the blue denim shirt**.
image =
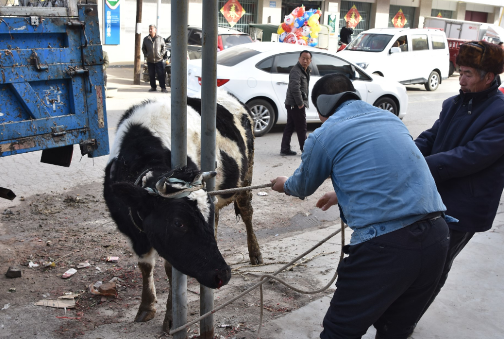
POLYGON ((374 325, 383 339, 406 339, 443 272, 449 246, 443 218, 345 246, 322 339, 356 339, 374 325))

